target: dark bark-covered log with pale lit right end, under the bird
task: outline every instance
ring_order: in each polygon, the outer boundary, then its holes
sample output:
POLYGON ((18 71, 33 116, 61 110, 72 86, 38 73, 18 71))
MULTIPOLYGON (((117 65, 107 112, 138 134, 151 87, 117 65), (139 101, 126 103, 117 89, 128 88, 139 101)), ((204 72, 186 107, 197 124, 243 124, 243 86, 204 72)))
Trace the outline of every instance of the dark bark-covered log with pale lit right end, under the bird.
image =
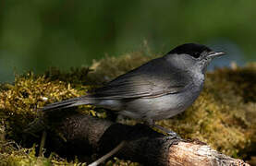
POLYGON ((75 114, 55 123, 55 129, 58 136, 48 135, 45 146, 47 150, 52 148, 63 155, 81 157, 96 153, 98 158, 125 140, 124 147, 115 156, 144 165, 249 165, 221 154, 201 141, 171 138, 147 125, 121 125, 75 114))

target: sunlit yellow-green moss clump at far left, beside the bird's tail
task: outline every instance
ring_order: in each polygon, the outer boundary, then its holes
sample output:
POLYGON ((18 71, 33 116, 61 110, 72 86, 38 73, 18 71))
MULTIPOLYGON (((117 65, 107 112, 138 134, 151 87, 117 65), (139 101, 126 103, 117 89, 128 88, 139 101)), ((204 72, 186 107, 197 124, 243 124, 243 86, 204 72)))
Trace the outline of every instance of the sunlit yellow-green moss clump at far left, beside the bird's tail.
POLYGON ((34 76, 31 72, 16 76, 13 85, 2 85, 0 91, 0 119, 5 122, 7 136, 17 138, 37 116, 37 109, 46 103, 78 97, 85 92, 71 88, 66 82, 51 81, 44 76, 34 76))

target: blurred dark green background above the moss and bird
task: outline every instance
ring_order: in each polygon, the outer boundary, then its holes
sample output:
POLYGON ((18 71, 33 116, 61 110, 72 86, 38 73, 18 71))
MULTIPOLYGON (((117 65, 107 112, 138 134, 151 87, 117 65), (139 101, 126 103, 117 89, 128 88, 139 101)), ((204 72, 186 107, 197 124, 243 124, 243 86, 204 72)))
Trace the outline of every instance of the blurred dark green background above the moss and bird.
POLYGON ((217 64, 243 65, 255 61, 255 6, 252 0, 0 0, 0 81, 27 70, 90 65, 104 54, 163 54, 185 42, 226 51, 217 64))

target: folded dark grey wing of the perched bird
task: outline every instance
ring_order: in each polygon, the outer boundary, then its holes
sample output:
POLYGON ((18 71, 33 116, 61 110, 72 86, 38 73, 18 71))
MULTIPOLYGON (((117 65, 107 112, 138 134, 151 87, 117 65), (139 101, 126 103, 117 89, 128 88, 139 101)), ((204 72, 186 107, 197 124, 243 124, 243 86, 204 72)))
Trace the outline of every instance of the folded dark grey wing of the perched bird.
POLYGON ((93 95, 102 99, 153 98, 178 93, 189 85, 189 76, 170 65, 164 57, 116 77, 93 95))

